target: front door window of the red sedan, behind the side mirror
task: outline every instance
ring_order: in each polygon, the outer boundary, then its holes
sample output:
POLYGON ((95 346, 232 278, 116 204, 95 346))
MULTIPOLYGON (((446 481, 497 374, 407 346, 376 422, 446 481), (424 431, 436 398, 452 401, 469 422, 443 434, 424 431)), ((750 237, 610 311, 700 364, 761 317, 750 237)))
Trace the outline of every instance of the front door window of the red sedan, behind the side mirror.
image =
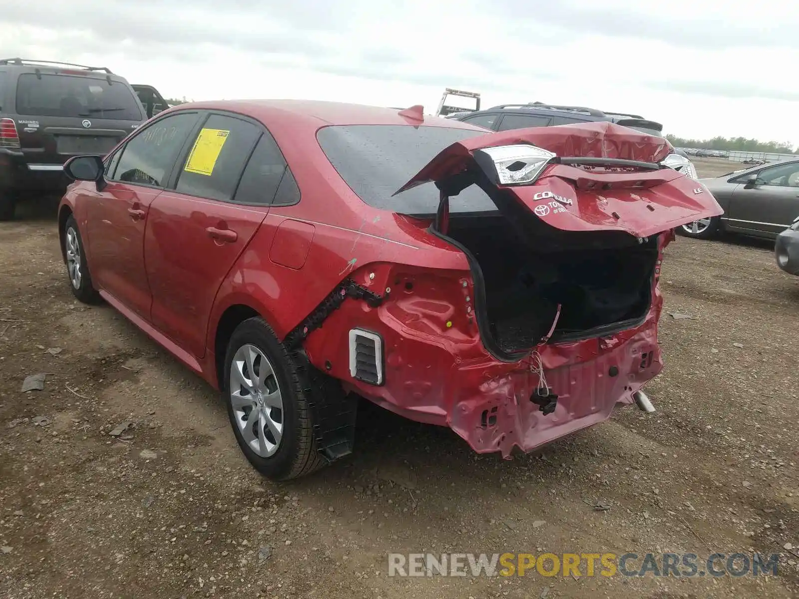
POLYGON ((197 113, 177 113, 141 129, 125 144, 109 177, 136 185, 164 187, 196 123, 197 113))

